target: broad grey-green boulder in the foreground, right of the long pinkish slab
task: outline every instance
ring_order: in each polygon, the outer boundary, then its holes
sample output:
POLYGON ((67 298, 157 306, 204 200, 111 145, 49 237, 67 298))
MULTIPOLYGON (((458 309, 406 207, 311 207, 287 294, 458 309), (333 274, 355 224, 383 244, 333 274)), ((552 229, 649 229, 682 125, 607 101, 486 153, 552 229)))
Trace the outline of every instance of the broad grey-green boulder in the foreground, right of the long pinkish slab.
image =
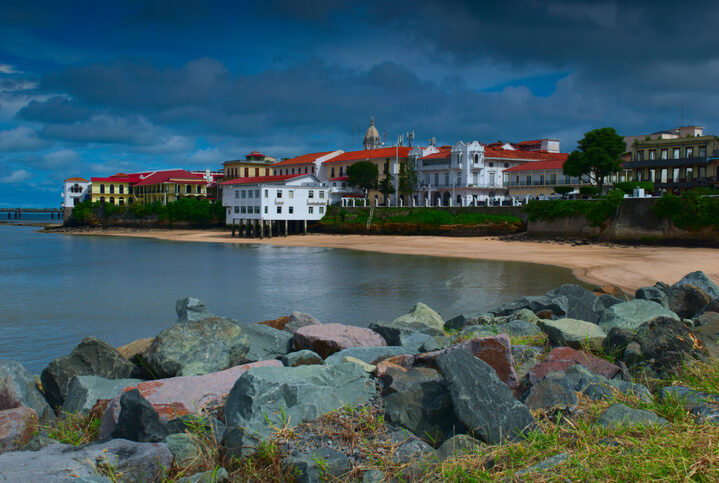
POLYGON ((272 432, 270 425, 295 426, 345 405, 367 403, 374 394, 374 383, 355 364, 254 368, 227 398, 228 453, 251 453, 272 432))

